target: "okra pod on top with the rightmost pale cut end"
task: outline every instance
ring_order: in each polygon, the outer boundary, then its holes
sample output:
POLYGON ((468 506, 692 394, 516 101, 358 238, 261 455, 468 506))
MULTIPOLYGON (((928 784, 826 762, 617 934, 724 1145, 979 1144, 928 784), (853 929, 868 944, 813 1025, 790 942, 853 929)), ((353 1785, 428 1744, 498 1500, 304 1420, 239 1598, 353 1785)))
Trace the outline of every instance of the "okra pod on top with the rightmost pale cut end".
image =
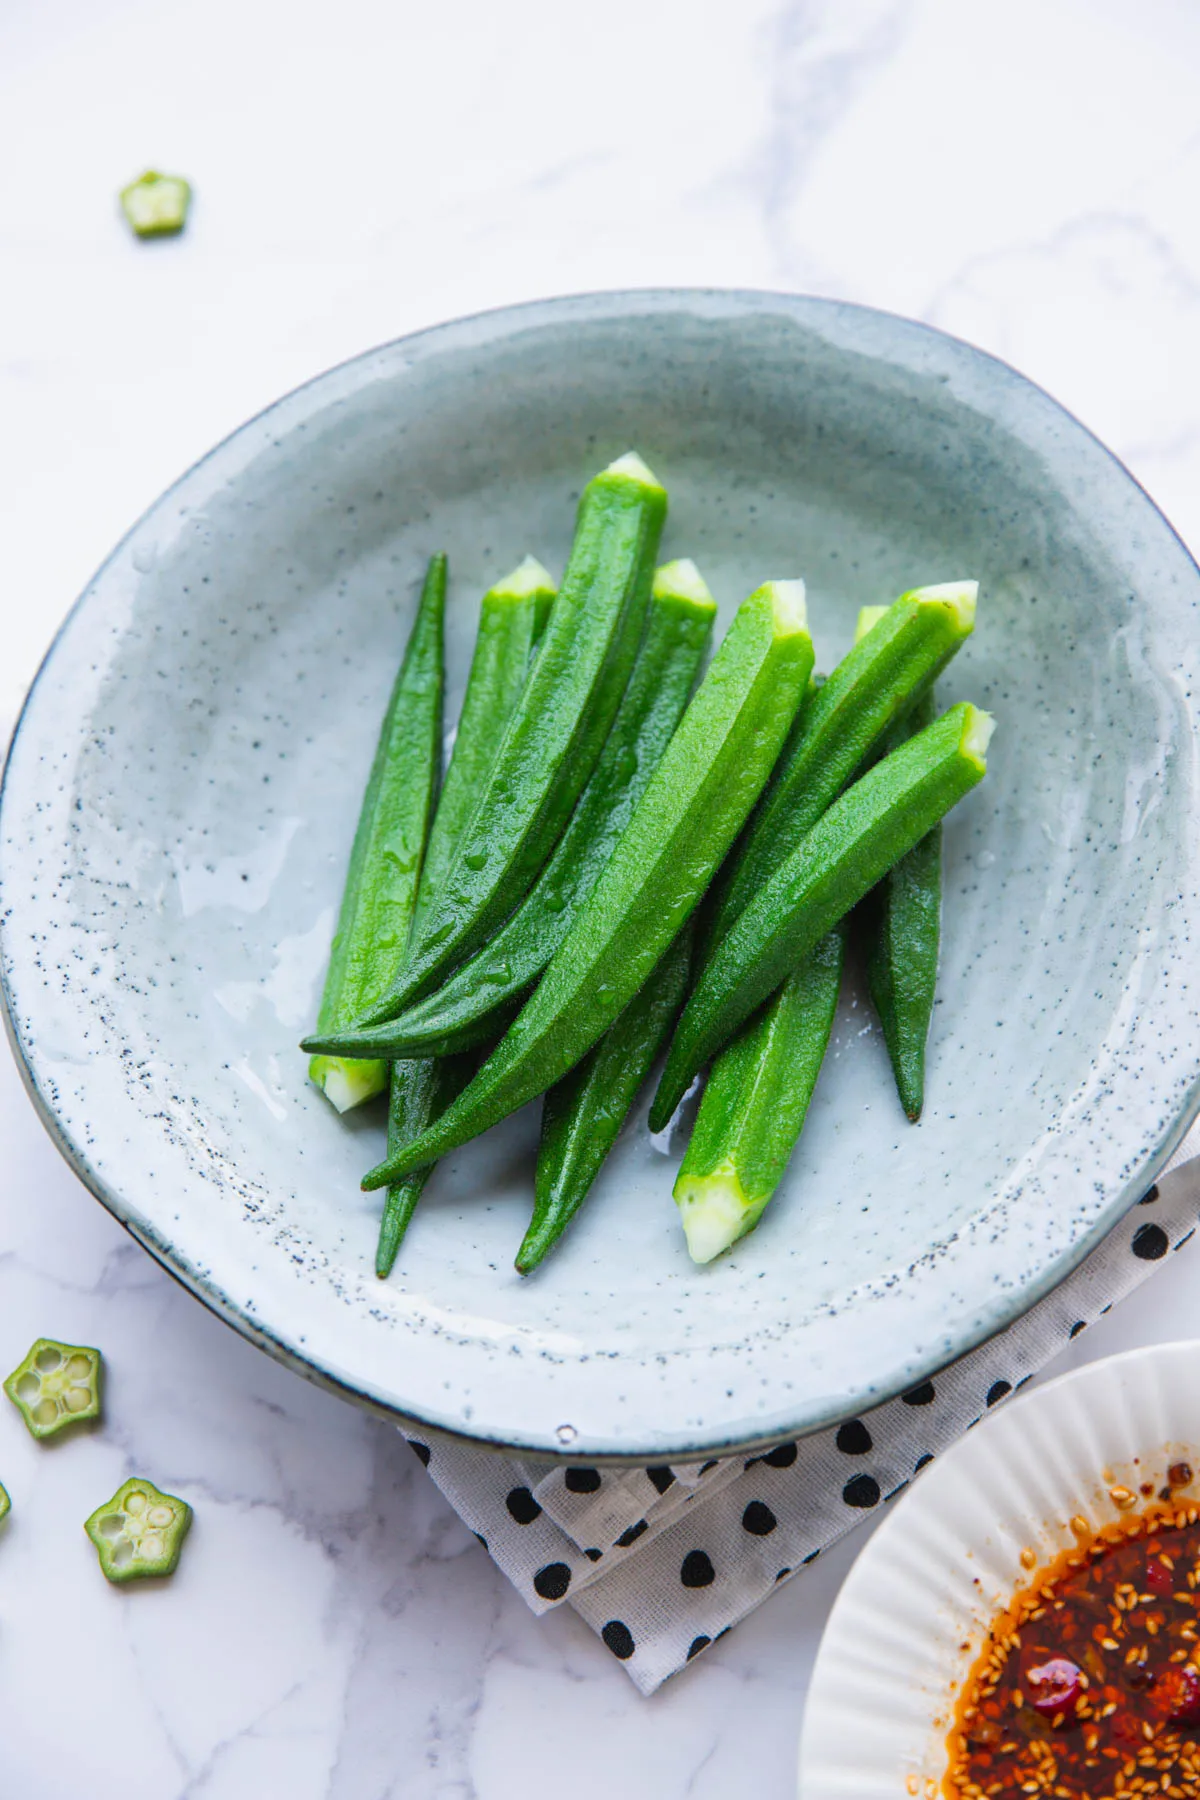
POLYGON ((855 781, 775 869, 700 970, 649 1109, 651 1130, 819 940, 982 781, 991 727, 979 707, 950 707, 855 781))

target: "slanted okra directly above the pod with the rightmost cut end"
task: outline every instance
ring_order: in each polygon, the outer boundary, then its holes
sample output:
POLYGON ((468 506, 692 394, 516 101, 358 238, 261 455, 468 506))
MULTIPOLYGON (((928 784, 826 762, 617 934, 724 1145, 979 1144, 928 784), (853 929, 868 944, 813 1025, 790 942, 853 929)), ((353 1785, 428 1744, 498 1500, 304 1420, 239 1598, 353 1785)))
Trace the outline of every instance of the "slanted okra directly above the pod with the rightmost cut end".
POLYGON ((804 707, 770 787, 718 877, 707 945, 718 943, 811 832, 894 718, 945 670, 975 626, 977 581, 945 581, 880 608, 874 628, 804 707))

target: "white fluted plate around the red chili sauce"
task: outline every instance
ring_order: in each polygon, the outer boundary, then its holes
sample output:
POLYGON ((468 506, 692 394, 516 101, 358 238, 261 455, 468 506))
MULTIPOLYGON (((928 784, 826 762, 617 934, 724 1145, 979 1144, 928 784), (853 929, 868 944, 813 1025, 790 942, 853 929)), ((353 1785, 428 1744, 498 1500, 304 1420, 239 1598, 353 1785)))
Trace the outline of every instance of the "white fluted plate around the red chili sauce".
MULTIPOLYGON (((801 1800, 941 1793, 955 1692, 997 1611, 1119 1517, 1108 1489, 1200 1471, 1200 1341, 1105 1357, 1009 1400, 918 1478, 858 1557, 817 1656, 801 1800)), ((1184 1490, 1200 1494, 1200 1483, 1184 1490)))

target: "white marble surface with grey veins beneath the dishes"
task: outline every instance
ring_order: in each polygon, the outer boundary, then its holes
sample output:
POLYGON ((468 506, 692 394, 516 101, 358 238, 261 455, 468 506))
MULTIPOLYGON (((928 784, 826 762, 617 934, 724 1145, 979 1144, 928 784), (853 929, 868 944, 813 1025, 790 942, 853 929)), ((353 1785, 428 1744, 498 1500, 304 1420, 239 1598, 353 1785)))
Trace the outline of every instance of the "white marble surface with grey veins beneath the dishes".
MULTIPOLYGON (((1187 0, 7 0, 0 729, 110 544, 216 437, 414 326, 626 284, 810 290, 1043 382, 1200 544, 1200 13, 1187 0), (115 189, 198 187, 139 247, 115 189)), ((396 1435, 210 1319, 0 1067, 0 1363, 99 1343, 110 1424, 0 1411, 9 1800, 792 1793, 856 1543, 653 1701, 534 1622, 396 1435), (137 1467, 196 1507, 121 1595, 79 1525, 137 1467)), ((1196 1253, 1087 1337, 1195 1332, 1196 1253)), ((862 1539, 858 1539, 860 1543, 862 1539)))

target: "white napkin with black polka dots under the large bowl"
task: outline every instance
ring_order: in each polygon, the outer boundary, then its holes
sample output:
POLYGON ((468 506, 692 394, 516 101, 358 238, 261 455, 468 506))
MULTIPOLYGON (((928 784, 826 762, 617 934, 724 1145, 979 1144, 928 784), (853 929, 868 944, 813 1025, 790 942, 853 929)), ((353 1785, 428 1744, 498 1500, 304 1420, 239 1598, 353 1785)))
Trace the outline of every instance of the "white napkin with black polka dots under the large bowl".
POLYGON ((1139 1287, 1198 1211, 1200 1132, 1009 1330, 898 1400, 759 1456, 590 1469, 432 1433, 408 1442, 534 1613, 572 1606, 653 1694, 1139 1287))

